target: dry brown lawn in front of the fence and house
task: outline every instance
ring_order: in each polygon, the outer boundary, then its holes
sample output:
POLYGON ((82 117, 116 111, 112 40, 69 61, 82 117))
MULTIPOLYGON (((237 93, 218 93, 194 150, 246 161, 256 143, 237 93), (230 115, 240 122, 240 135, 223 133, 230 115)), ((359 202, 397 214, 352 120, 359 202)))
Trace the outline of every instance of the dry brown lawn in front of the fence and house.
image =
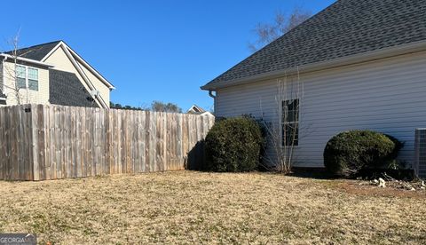
POLYGON ((426 192, 356 181, 176 171, 0 184, 0 232, 43 243, 426 243, 426 192))

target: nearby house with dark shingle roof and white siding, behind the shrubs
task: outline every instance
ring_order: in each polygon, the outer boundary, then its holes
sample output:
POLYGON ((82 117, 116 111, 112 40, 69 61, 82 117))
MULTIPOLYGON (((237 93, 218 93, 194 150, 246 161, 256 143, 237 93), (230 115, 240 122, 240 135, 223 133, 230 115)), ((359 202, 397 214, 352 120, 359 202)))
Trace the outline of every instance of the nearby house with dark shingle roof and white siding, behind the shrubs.
POLYGON ((297 167, 323 167, 327 141, 355 129, 404 141, 410 167, 414 130, 426 127, 425 13, 426 0, 336 1, 201 89, 217 116, 269 122, 300 99, 297 167), (303 90, 275 101, 279 81, 303 90))

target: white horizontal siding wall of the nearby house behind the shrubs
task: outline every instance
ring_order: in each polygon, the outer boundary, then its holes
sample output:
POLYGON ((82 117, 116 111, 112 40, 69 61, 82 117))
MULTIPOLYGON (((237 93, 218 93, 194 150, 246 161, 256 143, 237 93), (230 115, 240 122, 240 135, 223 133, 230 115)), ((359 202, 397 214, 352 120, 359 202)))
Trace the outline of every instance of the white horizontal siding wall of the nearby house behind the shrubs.
MULTIPOLYGON (((217 91, 217 116, 273 120, 277 80, 217 91)), ((301 138, 296 166, 322 167, 329 138, 343 130, 377 130, 405 142, 413 162, 414 129, 426 127, 426 51, 301 75, 301 138)), ((409 166, 409 165, 408 165, 409 166)))

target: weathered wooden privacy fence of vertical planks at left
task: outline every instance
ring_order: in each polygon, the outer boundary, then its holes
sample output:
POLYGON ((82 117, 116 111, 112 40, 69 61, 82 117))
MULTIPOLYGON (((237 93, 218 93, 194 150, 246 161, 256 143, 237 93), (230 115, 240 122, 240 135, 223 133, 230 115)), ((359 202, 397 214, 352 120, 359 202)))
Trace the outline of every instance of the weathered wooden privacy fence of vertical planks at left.
POLYGON ((0 107, 0 179, 184 170, 214 117, 89 107, 0 107))

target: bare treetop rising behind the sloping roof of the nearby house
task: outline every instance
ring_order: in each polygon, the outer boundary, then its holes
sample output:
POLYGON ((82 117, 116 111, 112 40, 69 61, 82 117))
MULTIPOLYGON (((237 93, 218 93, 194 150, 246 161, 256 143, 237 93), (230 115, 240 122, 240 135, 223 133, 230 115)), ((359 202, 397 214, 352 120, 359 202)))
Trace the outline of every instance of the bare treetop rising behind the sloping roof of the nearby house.
POLYGON ((250 51, 257 51, 264 45, 272 43, 280 36, 288 33, 299 24, 308 20, 311 17, 311 12, 305 11, 301 8, 295 8, 289 15, 282 12, 275 14, 275 19, 272 24, 258 23, 254 29, 257 40, 255 43, 249 43, 248 48, 250 51))

